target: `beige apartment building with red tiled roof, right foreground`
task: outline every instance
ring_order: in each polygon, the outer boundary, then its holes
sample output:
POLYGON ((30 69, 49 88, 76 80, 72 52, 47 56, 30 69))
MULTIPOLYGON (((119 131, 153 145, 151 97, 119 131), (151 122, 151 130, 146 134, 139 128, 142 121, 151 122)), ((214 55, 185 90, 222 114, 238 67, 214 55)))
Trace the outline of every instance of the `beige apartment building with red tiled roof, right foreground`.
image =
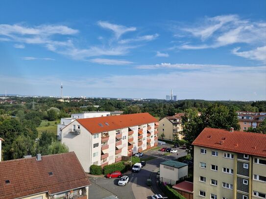
POLYGON ((266 134, 205 128, 193 145, 193 199, 266 198, 266 134))

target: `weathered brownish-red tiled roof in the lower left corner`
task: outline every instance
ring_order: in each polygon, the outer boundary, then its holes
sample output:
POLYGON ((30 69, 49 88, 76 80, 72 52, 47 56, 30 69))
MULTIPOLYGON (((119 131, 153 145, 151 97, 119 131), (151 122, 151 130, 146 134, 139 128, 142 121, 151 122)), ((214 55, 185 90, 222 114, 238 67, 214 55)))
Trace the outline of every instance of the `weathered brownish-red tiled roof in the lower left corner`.
POLYGON ((0 199, 60 193, 90 184, 74 152, 0 162, 0 199), (49 176, 48 172, 53 175, 49 176), (9 180, 10 184, 5 184, 9 180))

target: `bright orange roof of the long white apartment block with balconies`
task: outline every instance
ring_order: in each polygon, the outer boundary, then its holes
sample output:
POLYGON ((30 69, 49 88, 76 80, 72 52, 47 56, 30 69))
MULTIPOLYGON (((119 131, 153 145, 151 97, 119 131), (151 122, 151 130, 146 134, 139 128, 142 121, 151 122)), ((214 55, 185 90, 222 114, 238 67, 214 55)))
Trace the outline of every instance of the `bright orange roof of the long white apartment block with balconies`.
POLYGON ((77 119, 77 121, 90 133, 102 133, 126 127, 153 123, 157 122, 158 120, 155 117, 151 116, 149 113, 144 112, 106 117, 84 118, 77 119), (100 126, 99 124, 101 124, 102 126, 100 126))

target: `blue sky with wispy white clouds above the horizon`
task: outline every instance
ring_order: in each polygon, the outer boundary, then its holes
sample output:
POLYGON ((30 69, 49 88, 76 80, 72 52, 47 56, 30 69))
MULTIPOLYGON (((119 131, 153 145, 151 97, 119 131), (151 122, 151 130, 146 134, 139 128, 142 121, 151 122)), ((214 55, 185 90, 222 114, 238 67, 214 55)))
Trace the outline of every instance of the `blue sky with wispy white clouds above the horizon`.
POLYGON ((266 1, 3 0, 0 71, 0 93, 266 100, 266 1))

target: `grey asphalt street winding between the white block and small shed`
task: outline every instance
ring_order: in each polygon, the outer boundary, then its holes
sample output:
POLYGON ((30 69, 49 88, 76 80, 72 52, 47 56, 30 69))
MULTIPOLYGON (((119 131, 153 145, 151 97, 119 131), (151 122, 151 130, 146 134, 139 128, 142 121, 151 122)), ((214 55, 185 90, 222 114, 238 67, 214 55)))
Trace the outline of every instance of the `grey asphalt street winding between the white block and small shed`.
MULTIPOLYGON (((172 145, 159 145, 160 148, 171 147, 172 145)), ((187 155, 185 150, 178 149, 176 153, 169 154, 157 150, 149 150, 144 153, 141 159, 151 159, 146 162, 146 166, 139 173, 126 172, 123 175, 129 177, 129 181, 125 186, 118 186, 119 178, 90 177, 91 184, 89 187, 89 198, 102 199, 107 196, 117 196, 119 199, 149 199, 153 195, 152 189, 146 185, 146 180, 150 178, 152 172, 157 172, 160 162, 177 159, 178 157, 187 155)))

